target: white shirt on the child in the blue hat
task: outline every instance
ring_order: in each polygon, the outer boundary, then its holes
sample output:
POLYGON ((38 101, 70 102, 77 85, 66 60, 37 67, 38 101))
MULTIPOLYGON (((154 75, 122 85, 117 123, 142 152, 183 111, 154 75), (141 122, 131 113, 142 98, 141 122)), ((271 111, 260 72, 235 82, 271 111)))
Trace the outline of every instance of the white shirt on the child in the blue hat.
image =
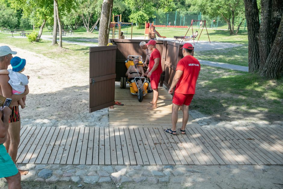
POLYGON ((13 71, 12 69, 8 69, 8 71, 10 77, 8 83, 11 85, 11 87, 19 92, 25 91, 25 85, 29 83, 26 75, 13 71))

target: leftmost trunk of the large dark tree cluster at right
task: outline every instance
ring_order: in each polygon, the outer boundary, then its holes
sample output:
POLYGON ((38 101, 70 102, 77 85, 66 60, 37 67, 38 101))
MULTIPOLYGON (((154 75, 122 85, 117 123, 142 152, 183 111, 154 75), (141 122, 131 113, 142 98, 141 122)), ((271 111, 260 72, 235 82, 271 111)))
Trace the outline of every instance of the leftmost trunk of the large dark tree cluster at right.
POLYGON ((245 16, 247 19, 248 41, 249 41, 249 72, 256 72, 259 69, 259 46, 258 35, 260 20, 256 0, 244 0, 245 16))

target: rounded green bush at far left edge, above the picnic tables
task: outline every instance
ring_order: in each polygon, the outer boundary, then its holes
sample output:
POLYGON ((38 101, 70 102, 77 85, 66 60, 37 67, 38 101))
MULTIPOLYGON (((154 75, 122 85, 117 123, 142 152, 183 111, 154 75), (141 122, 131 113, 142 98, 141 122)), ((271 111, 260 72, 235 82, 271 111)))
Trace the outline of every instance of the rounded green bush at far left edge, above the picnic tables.
POLYGON ((0 5, 0 26, 15 29, 18 26, 17 13, 11 8, 0 5))

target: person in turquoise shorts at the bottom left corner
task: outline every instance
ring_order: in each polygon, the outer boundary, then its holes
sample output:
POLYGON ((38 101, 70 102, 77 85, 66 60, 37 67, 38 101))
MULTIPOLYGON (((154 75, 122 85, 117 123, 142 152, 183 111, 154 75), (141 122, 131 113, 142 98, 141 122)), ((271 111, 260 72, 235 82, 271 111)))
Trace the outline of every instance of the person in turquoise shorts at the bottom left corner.
POLYGON ((0 178, 6 178, 8 188, 21 188, 21 175, 3 143, 7 140, 11 109, 0 107, 0 178))

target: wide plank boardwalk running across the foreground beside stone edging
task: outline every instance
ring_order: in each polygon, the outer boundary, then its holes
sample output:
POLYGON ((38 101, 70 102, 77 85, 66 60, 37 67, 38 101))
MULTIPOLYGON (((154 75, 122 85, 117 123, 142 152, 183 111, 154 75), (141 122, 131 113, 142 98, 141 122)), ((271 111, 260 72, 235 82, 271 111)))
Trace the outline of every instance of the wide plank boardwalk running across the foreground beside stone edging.
POLYGON ((283 165, 280 128, 22 127, 17 163, 283 165))

